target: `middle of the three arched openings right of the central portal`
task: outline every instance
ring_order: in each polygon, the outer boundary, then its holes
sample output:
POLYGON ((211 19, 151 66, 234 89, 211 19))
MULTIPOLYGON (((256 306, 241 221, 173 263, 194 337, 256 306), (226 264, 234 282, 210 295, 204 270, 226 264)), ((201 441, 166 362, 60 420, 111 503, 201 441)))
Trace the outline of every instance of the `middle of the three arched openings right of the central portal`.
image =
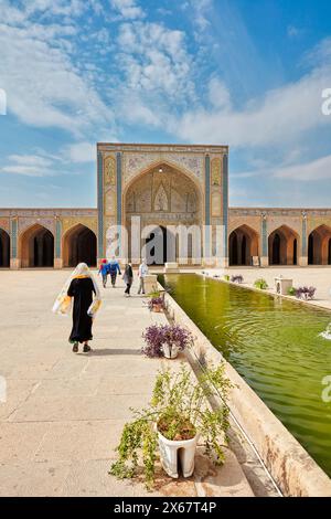
POLYGON ((269 235, 269 265, 297 265, 298 264, 298 235, 288 227, 281 225, 269 235))

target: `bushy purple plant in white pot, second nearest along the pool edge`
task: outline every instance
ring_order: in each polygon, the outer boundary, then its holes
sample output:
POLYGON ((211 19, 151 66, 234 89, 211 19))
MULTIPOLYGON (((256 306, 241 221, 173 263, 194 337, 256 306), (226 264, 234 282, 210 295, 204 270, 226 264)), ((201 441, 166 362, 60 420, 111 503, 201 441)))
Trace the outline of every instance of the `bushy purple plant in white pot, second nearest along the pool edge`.
POLYGON ((167 359, 175 359, 193 340, 192 333, 179 325, 151 325, 142 337, 146 341, 142 353, 167 359))

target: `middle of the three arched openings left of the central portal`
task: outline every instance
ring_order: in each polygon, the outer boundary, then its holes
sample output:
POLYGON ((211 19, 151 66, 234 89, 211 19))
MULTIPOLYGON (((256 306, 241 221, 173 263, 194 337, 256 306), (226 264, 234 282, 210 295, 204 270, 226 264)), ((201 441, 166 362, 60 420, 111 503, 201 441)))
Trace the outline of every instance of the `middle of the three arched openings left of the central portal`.
POLYGON ((54 266, 54 236, 46 227, 35 224, 21 236, 22 268, 54 266))

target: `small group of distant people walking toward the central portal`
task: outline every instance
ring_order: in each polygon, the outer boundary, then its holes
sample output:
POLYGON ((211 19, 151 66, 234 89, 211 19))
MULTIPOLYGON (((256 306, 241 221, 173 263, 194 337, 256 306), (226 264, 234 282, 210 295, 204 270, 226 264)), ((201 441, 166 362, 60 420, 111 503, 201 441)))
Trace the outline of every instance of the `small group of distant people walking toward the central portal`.
MULTIPOLYGON (((121 275, 120 266, 118 261, 116 260, 115 256, 110 260, 110 262, 107 262, 107 260, 103 260, 100 266, 99 266, 99 272, 98 272, 102 277, 103 277, 103 285, 104 288, 107 286, 107 279, 108 275, 110 275, 111 279, 111 286, 115 288, 116 286, 116 279, 117 279, 117 274, 121 275)), ((145 278, 148 275, 148 266, 145 260, 142 260, 141 264, 139 265, 138 269, 138 277, 139 277, 139 287, 138 287, 138 294, 145 294, 145 278)), ((126 284, 126 289, 125 289, 125 295, 127 297, 130 297, 131 295, 131 286, 134 284, 134 269, 132 265, 130 263, 127 263, 125 266, 125 272, 122 275, 122 279, 126 284)))

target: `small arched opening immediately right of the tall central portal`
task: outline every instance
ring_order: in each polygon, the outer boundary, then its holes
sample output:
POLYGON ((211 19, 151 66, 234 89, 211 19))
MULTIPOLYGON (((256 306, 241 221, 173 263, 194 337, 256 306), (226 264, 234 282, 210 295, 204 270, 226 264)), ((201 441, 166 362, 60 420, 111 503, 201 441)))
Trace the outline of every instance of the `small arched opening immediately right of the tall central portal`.
POLYGON ((258 256, 258 234, 248 225, 233 231, 228 239, 229 266, 252 265, 253 257, 258 256))

